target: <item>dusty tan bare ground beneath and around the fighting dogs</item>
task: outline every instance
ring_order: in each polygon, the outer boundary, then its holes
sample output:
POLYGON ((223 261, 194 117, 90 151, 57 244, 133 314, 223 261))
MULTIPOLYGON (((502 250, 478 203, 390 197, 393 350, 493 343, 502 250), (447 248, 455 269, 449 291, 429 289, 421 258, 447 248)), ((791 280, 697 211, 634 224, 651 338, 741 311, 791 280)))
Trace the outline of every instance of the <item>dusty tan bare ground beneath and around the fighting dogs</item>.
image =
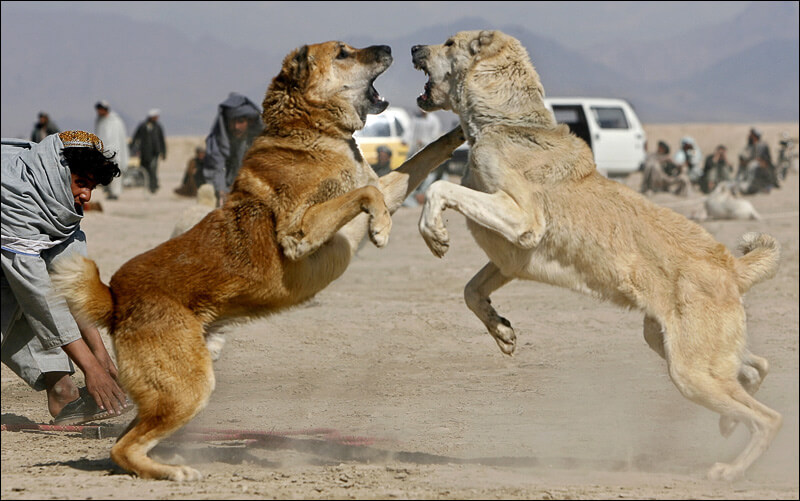
MULTIPOLYGON (((747 127, 736 127, 731 137, 743 139, 739 129, 747 127)), ((711 147, 718 141, 695 135, 711 147)), ((96 194, 105 210, 89 213, 83 228, 105 280, 166 239, 192 203, 172 188, 196 140, 170 139, 156 196, 131 189, 111 202, 96 194)), ((653 200, 685 214, 700 203, 653 200)), ((192 423, 330 428, 372 439, 367 445, 319 435, 171 442, 161 457, 179 454, 206 474, 176 484, 117 470, 108 456, 113 438, 3 431, 2 498, 797 499, 797 174, 750 200, 764 221, 703 223, 731 248, 753 230, 783 246, 778 276, 754 287, 745 308, 751 348, 771 364, 758 397, 783 414, 784 427, 741 481, 705 480, 712 463, 741 450, 747 433, 740 426, 722 438, 717 416, 680 396, 642 338, 640 313, 512 282, 492 298, 518 334, 516 355, 506 357, 463 303, 464 285, 486 261, 463 217, 446 213, 451 248, 439 260, 417 232, 419 209, 404 208, 388 247, 364 246, 315 301, 229 336, 217 389, 192 423)), ((44 395, 3 366, 2 423, 47 422, 44 395)))

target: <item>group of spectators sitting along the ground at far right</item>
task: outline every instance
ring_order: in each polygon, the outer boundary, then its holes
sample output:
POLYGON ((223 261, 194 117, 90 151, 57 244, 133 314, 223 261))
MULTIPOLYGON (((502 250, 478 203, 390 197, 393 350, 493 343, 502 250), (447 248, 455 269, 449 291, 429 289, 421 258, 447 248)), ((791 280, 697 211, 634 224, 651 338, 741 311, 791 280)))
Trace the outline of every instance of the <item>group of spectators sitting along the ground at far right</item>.
POLYGON ((656 151, 647 154, 640 168, 640 191, 645 194, 669 192, 688 196, 697 190, 712 193, 715 188, 725 184, 741 195, 770 193, 781 187, 792 168, 797 157, 797 143, 797 138, 790 138, 784 132, 779 141, 777 158, 773 161, 763 133, 751 128, 745 147, 739 152, 738 158, 731 161, 724 144, 717 145, 712 153, 703 156, 692 137, 681 138, 674 154, 670 154, 670 147, 665 141, 659 141, 656 151))

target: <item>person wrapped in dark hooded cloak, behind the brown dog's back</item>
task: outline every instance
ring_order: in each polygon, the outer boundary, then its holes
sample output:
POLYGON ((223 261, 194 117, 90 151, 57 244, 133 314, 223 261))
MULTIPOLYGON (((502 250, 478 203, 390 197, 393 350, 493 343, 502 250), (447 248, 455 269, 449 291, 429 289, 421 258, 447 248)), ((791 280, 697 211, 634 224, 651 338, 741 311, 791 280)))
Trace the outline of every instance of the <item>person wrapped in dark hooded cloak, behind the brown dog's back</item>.
POLYGON ((225 203, 244 154, 264 128, 261 109, 242 94, 231 92, 220 103, 211 132, 206 137, 203 177, 214 185, 219 205, 225 203))

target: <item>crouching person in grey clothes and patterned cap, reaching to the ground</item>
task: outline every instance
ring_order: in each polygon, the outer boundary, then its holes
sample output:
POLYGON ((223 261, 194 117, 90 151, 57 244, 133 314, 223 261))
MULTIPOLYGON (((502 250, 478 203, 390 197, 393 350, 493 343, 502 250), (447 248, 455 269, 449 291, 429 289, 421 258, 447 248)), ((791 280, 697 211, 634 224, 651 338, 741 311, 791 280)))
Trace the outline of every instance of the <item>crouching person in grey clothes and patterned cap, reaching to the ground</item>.
POLYGON ((52 293, 59 256, 86 254, 80 229, 92 190, 119 175, 97 136, 67 131, 33 143, 2 144, 2 360, 45 390, 55 424, 106 419, 130 408, 97 328, 75 319, 52 293), (85 376, 78 389, 73 362, 85 376))

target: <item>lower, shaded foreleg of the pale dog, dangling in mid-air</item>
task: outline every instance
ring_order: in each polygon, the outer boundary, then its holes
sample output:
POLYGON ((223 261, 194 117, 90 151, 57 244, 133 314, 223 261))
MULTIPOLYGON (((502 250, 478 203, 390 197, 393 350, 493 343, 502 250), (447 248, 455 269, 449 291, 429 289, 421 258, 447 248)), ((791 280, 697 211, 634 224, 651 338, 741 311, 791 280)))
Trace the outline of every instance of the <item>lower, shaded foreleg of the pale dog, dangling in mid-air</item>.
POLYGON ((514 353, 517 336, 511 327, 511 322, 497 314, 492 307, 489 295, 512 280, 500 272, 492 262, 484 266, 464 288, 464 301, 473 313, 483 322, 506 355, 514 353))

